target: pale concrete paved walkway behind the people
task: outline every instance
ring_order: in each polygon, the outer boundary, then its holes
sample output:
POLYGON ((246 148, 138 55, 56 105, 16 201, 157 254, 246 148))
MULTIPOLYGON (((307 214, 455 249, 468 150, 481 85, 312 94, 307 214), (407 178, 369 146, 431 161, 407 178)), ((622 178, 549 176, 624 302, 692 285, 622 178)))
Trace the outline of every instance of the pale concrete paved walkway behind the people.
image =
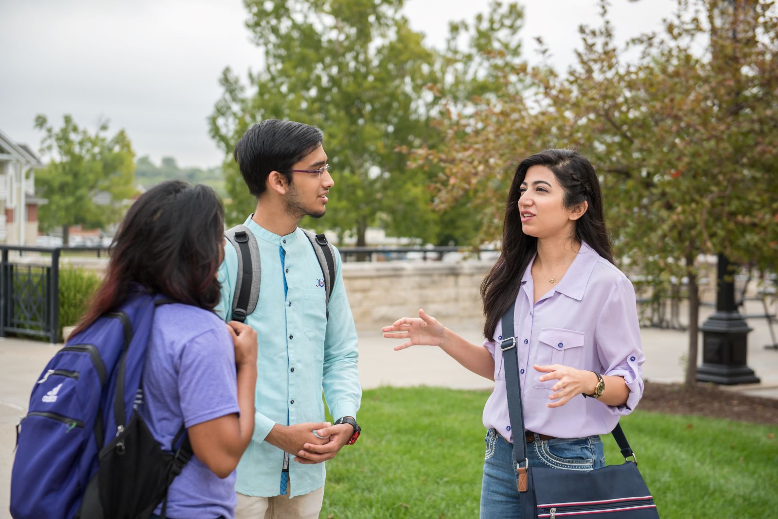
MULTIPOLYGON (((749 305, 752 305, 749 303, 749 305)), ((758 305, 747 313, 759 312, 758 305)), ((700 322, 711 312, 704 308, 700 322)), ((386 323, 390 324, 390 323, 386 323)), ((447 322, 466 339, 482 341, 478 323, 457 326, 447 322)), ((765 350, 769 331, 764 319, 752 319, 748 325, 748 365, 762 381, 758 385, 738 385, 727 390, 778 399, 778 350, 765 350)), ((381 336, 381 324, 358 324, 359 372, 363 388, 381 385, 432 385, 460 389, 491 389, 493 382, 465 370, 456 361, 434 347, 412 347, 394 351, 394 340, 381 336)), ((684 378, 687 335, 685 332, 644 328, 641 331, 647 361, 643 378, 657 382, 681 382, 684 378)), ((16 442, 15 425, 26 412, 30 390, 37 376, 61 345, 30 340, 0 338, 0 519, 9 517, 12 450, 16 442)), ((702 341, 700 341, 700 350, 702 341)))

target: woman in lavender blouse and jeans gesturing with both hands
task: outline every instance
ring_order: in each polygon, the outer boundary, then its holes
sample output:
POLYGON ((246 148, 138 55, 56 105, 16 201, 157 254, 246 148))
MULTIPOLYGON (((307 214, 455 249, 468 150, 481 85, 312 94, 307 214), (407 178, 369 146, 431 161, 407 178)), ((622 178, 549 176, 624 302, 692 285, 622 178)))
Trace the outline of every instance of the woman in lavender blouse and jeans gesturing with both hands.
POLYGON ((601 468, 600 435, 643 395, 635 291, 613 264, 600 184, 584 155, 551 149, 520 163, 508 193, 503 251, 481 295, 482 346, 423 310, 382 331, 407 339, 395 350, 437 346, 495 381, 483 413, 481 517, 520 517, 503 354, 496 348, 503 335, 517 341, 527 427, 520 434, 526 434, 531 466, 601 468), (514 301, 514 329, 503 333, 500 320, 514 301))

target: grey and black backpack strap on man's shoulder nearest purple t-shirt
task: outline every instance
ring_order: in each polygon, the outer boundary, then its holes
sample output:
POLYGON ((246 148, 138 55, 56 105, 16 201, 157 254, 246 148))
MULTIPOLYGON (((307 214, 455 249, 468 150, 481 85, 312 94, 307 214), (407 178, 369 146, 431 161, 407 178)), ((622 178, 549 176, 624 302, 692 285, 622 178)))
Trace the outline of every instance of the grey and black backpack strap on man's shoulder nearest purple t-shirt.
POLYGON ((242 224, 227 229, 224 236, 233 244, 238 253, 238 272, 235 280, 231 319, 244 322, 246 316, 254 312, 259 300, 259 282, 261 280, 259 246, 251 229, 242 224))

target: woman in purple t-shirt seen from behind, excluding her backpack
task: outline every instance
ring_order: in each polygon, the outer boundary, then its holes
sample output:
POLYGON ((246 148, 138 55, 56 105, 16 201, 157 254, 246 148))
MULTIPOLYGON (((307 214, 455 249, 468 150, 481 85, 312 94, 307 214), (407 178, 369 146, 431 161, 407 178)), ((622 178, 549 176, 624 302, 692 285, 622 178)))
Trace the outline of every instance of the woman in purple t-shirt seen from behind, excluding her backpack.
POLYGON ((208 186, 172 180, 143 193, 74 332, 134 291, 177 301, 156 308, 138 406, 163 448, 184 424, 194 452, 167 493, 167 517, 234 517, 235 468, 254 431, 256 333, 213 312, 223 232, 222 204, 208 186))

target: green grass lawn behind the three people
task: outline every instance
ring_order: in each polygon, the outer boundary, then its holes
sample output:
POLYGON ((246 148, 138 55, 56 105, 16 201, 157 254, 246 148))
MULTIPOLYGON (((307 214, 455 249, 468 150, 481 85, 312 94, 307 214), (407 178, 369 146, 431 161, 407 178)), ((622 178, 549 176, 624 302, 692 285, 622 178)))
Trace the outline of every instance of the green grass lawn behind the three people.
MULTIPOLYGON (((488 396, 366 391, 362 437, 327 464, 321 517, 478 517, 488 396)), ((661 517, 778 517, 778 425, 636 411, 622 427, 661 517)), ((603 439, 608 464, 622 463, 603 439)))

